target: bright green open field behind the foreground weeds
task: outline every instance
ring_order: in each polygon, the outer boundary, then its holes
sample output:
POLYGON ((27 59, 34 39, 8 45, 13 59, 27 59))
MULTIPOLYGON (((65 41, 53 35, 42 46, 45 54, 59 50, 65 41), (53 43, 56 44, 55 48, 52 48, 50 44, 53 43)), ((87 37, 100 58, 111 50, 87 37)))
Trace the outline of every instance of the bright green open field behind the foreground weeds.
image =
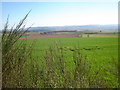
POLYGON ((91 77, 91 80, 95 79, 96 82, 104 81, 104 84, 99 87, 118 87, 117 37, 39 38, 27 39, 27 41, 34 42, 32 57, 41 65, 43 65, 41 60, 44 59, 45 51, 48 51, 50 46, 53 46, 53 49, 55 46, 62 48, 65 68, 70 73, 73 72, 75 67, 73 64, 73 53, 76 49, 79 50, 89 66, 86 73, 91 77), (95 73, 98 73, 96 78, 94 76, 95 73))

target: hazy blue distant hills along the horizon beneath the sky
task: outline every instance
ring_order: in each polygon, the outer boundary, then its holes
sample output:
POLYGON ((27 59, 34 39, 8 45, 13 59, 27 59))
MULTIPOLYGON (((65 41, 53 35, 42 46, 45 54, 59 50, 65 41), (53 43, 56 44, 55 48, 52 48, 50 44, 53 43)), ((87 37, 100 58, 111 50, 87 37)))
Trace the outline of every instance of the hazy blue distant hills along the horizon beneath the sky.
POLYGON ((72 26, 52 26, 52 27, 31 27, 29 31, 117 31, 117 24, 109 24, 109 25, 72 25, 72 26))

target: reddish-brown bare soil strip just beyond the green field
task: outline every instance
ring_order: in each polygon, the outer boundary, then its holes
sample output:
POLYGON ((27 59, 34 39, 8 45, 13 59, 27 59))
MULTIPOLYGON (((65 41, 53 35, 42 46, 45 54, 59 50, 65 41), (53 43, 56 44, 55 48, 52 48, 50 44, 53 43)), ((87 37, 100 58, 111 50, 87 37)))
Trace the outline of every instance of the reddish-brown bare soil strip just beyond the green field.
POLYGON ((30 35, 30 36, 27 36, 27 37, 21 37, 20 39, 54 38, 54 37, 78 37, 78 35, 75 35, 75 34, 30 35))

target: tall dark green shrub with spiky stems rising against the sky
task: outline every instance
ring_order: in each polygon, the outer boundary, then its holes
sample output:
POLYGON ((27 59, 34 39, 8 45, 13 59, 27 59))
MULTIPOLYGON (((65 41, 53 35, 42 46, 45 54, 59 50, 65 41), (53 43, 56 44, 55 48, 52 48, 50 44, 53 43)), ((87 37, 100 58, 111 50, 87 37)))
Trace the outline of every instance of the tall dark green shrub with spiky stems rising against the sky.
MULTIPOLYGON (((28 13, 29 14, 29 13, 28 13)), ((24 66, 31 54, 31 45, 27 47, 20 37, 29 29, 25 29, 24 21, 28 14, 16 27, 8 30, 8 19, 2 30, 2 87, 22 87, 24 82, 24 66)))

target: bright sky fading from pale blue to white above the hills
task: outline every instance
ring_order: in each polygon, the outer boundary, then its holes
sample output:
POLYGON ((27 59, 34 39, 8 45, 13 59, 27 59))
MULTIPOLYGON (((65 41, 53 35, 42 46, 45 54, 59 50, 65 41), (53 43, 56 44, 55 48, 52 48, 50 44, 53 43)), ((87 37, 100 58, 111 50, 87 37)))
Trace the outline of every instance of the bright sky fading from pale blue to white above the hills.
POLYGON ((117 0, 104 1, 2 2, 2 20, 4 24, 9 14, 9 25, 12 26, 32 9, 27 18, 26 26, 31 24, 34 24, 33 26, 117 24, 117 0))

